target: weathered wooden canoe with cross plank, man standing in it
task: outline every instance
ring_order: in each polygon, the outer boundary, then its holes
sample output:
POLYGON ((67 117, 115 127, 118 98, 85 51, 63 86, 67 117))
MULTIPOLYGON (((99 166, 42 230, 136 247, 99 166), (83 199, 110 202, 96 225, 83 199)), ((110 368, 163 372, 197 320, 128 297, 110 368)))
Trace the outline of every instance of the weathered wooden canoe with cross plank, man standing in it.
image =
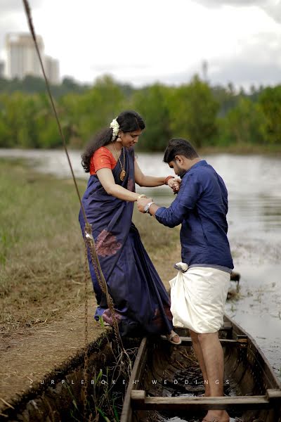
POLYGON ((200 397, 204 385, 188 330, 182 343, 143 338, 126 390, 121 422, 202 420, 207 409, 226 409, 230 421, 281 422, 281 385, 263 352, 225 316, 220 331, 225 356, 224 397, 200 397))

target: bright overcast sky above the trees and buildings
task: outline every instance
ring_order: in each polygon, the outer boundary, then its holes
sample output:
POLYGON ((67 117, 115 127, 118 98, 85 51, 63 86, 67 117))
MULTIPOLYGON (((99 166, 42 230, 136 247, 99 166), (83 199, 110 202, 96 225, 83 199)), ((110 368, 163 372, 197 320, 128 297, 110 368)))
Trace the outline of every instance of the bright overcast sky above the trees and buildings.
MULTIPOLYGON (((211 84, 281 83, 281 0, 30 0, 60 75, 105 73, 134 86, 188 82, 208 63, 211 84)), ((0 0, 7 32, 27 32, 22 0, 0 0)))

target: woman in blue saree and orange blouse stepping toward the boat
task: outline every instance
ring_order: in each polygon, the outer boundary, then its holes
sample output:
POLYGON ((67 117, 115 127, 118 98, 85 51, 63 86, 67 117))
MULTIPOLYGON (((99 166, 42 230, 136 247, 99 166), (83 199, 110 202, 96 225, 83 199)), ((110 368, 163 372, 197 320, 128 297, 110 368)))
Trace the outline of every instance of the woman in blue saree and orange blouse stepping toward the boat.
MULTIPOLYGON (((172 330, 169 296, 132 222, 133 203, 140 197, 135 182, 150 187, 169 184, 178 189, 173 177, 145 176, 138 167, 133 145, 144 128, 138 113, 125 111, 89 143, 81 155, 84 170, 91 174, 82 203, 115 305, 120 334, 159 333, 171 343, 180 344, 181 339, 172 330)), ((81 210, 79 222, 84 235, 81 210)), ((95 319, 103 316, 105 323, 112 325, 105 294, 88 257, 98 302, 95 319)))

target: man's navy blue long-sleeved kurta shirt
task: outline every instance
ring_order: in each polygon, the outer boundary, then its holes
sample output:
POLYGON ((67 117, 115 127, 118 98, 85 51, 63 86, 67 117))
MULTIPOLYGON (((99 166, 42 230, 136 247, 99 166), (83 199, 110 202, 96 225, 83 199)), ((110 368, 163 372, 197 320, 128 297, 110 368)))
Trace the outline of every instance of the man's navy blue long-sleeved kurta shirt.
POLYGON ((200 160, 185 172, 171 206, 160 207, 155 217, 165 226, 182 224, 181 259, 185 264, 231 270, 227 212, 228 191, 223 179, 200 160))

